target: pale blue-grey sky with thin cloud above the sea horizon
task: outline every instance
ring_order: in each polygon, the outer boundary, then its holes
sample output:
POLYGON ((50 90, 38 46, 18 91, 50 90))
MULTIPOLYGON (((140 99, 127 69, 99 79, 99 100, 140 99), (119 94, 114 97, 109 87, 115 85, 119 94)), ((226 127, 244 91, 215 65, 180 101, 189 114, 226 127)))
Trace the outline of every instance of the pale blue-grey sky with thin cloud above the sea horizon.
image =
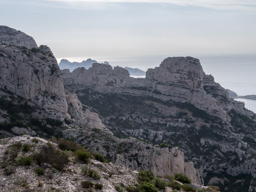
POLYGON ((0 25, 57 58, 256 53, 256 0, 0 0, 0 25))

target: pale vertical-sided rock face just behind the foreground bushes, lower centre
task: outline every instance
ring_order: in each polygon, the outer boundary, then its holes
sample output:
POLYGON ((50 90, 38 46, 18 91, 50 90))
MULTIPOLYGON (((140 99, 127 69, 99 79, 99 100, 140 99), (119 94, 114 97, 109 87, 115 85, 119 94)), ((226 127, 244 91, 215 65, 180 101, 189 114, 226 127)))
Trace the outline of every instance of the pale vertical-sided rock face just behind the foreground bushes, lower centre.
POLYGON ((177 147, 150 147, 149 144, 147 146, 135 138, 124 139, 121 144, 127 146, 129 150, 126 149, 126 153, 117 154, 115 163, 118 165, 125 165, 133 170, 149 169, 156 176, 183 173, 193 183, 203 184, 203 179, 194 168, 193 162, 184 162, 184 154, 177 147), (134 157, 132 160, 129 158, 131 156, 134 157))

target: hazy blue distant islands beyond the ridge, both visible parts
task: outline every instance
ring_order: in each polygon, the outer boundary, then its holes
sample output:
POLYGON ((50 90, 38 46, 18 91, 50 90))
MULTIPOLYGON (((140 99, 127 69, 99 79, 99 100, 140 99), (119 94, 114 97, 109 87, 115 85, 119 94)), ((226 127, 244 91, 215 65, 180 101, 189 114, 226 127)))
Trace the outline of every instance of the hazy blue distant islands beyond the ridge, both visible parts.
MULTIPOLYGON (((96 60, 87 59, 82 62, 70 62, 66 59, 62 59, 59 63, 60 69, 69 69, 70 72, 74 71, 74 69, 78 67, 84 67, 86 69, 89 69, 93 63, 98 63, 96 60)), ((100 63, 103 65, 109 65, 109 62, 104 61, 104 63, 100 63)), ((130 75, 146 75, 146 72, 142 71, 138 68, 131 68, 131 67, 125 67, 127 71, 129 71, 130 75)))

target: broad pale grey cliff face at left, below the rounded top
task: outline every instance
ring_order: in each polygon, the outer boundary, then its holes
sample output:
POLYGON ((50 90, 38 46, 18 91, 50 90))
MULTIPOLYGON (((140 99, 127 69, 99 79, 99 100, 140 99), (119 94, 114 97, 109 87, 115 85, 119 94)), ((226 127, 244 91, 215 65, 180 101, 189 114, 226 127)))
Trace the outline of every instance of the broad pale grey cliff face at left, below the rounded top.
POLYGON ((24 97, 47 110, 67 116, 67 102, 61 71, 47 46, 38 53, 19 46, 0 46, 0 88, 24 97), (24 51, 26 51, 24 53, 24 51))

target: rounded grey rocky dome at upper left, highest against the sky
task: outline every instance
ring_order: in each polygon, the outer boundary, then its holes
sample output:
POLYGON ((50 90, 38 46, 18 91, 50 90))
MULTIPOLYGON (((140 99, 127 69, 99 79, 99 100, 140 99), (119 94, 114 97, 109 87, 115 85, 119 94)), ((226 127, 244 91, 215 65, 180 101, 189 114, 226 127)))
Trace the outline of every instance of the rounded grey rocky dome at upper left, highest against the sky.
POLYGON ((27 49, 37 48, 37 44, 33 37, 3 25, 0 26, 0 43, 25 46, 27 49))

